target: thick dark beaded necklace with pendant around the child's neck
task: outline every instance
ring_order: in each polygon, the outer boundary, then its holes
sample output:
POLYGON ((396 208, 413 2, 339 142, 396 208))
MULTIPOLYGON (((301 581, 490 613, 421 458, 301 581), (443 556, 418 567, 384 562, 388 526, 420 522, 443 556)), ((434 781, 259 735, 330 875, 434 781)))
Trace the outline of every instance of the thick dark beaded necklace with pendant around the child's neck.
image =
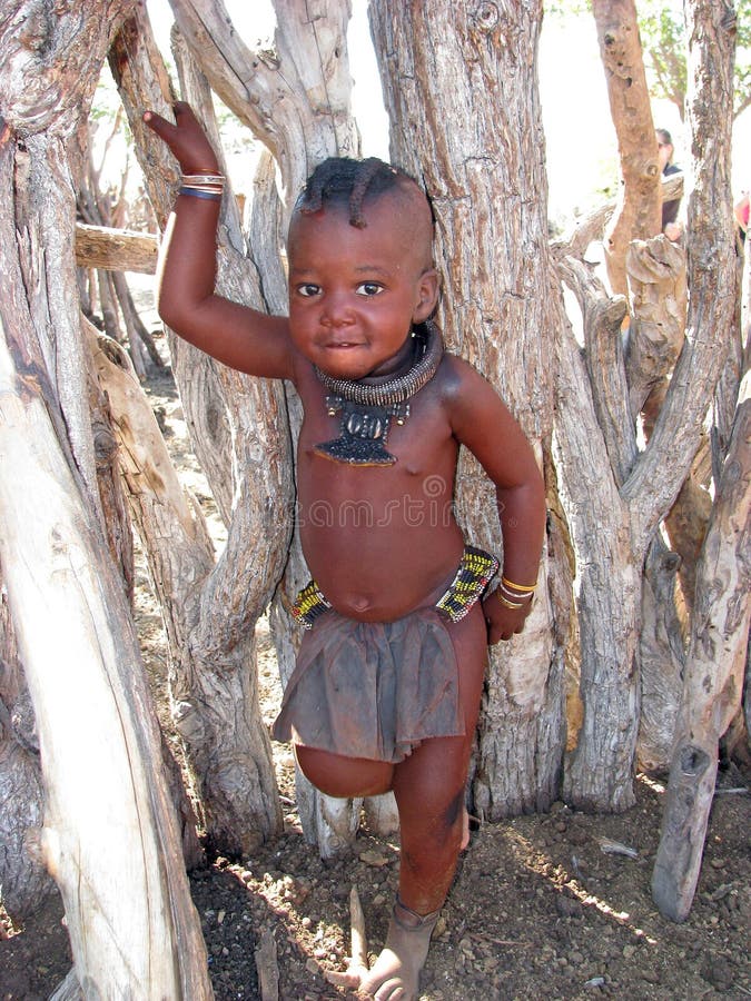
POLYGON ((328 390, 326 409, 342 412, 340 435, 315 446, 315 452, 354 466, 391 466, 396 462, 384 447, 392 417, 404 424, 409 403, 436 374, 443 357, 441 331, 432 320, 415 328, 415 358, 404 375, 369 385, 356 379, 335 379, 317 366, 316 376, 328 390))

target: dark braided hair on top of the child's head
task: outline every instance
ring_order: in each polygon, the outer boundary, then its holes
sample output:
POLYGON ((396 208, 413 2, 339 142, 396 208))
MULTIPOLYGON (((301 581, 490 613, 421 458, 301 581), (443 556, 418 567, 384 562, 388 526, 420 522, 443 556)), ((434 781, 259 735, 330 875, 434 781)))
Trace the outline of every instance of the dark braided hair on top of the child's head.
POLYGON ((307 216, 319 211, 325 202, 347 205, 349 225, 364 229, 367 226, 363 216, 365 198, 392 191, 404 181, 414 184, 408 174, 377 157, 368 157, 366 160, 329 157, 308 178, 296 208, 307 216))

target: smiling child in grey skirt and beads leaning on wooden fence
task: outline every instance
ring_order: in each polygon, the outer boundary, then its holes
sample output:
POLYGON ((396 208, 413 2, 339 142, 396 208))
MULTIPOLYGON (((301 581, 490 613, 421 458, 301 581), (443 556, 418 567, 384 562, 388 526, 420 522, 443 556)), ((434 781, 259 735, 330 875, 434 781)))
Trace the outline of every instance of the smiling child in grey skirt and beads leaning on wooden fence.
POLYGON ((219 298, 215 234, 223 179, 187 105, 147 111, 185 171, 165 241, 159 313, 241 371, 289 379, 305 418, 300 537, 314 581, 308 627, 274 735, 333 796, 393 790, 402 866, 386 945, 342 982, 416 998, 460 849, 464 787, 487 643, 522 631, 542 548, 542 478, 490 384, 443 351, 428 202, 381 160, 327 160, 293 211, 289 317, 219 298), (497 489, 497 561, 465 547, 452 511, 460 445, 497 489))

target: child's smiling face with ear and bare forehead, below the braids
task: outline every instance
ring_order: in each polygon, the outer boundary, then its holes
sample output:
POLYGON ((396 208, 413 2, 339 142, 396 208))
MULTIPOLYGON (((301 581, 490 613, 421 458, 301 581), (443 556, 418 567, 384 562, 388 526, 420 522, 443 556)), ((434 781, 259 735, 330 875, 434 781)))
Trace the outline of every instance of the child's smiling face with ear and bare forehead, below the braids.
POLYGON ((366 205, 364 229, 352 226, 339 206, 293 219, 291 337, 328 375, 360 379, 397 371, 412 357, 412 324, 435 308, 429 236, 426 248, 424 227, 398 208, 408 201, 391 194, 366 205))

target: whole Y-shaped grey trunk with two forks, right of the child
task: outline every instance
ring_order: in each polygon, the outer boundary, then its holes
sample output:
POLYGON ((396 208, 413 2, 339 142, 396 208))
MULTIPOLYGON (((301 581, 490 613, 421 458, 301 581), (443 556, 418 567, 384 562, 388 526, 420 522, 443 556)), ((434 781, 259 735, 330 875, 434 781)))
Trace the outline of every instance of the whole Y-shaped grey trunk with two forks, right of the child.
MULTIPOLYGON (((709 7, 718 12, 717 6, 709 7)), ((631 467, 626 463, 622 485, 624 457, 609 430, 632 426, 622 361, 612 355, 610 364, 617 374, 597 371, 596 380, 585 379, 579 347, 565 324, 560 325, 556 439, 577 562, 584 705, 579 743, 566 763, 564 795, 586 809, 619 809, 633 802, 642 566, 658 525, 691 468, 728 351, 734 286, 727 187, 731 112, 722 96, 732 63, 728 27, 732 26, 718 26, 713 46, 693 41, 702 65, 696 71, 693 127, 696 187, 690 200, 686 340, 649 445, 631 467), (723 31, 725 37, 720 38, 723 31), (612 395, 609 390, 604 405, 596 407, 600 415, 607 415, 603 428, 587 398, 596 400, 607 385, 621 388, 612 395)), ((586 345, 585 354, 590 349, 586 345)))

